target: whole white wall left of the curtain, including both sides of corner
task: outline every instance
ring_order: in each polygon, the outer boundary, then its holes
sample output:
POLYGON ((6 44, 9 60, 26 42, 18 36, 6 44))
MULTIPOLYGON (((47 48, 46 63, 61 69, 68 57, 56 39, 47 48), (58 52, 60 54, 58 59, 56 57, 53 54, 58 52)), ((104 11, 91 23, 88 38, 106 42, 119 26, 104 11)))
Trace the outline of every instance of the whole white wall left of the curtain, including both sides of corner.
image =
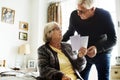
POLYGON ((40 24, 44 24, 46 20, 44 3, 44 0, 0 0, 0 14, 2 7, 15 10, 14 24, 0 21, 0 60, 5 59, 6 66, 22 65, 23 55, 18 54, 18 47, 24 43, 30 43, 32 57, 29 58, 36 58, 36 46, 41 42, 43 28, 40 24), (22 31, 19 29, 19 21, 25 21, 29 24, 27 41, 19 40, 19 32, 22 31))

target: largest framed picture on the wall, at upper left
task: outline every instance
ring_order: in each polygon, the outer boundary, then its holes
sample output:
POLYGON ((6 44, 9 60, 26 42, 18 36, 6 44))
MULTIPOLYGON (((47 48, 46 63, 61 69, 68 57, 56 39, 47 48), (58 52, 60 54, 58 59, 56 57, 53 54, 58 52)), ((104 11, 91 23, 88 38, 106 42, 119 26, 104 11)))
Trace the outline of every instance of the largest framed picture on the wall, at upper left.
POLYGON ((1 21, 5 23, 14 24, 15 10, 2 7, 1 21))

